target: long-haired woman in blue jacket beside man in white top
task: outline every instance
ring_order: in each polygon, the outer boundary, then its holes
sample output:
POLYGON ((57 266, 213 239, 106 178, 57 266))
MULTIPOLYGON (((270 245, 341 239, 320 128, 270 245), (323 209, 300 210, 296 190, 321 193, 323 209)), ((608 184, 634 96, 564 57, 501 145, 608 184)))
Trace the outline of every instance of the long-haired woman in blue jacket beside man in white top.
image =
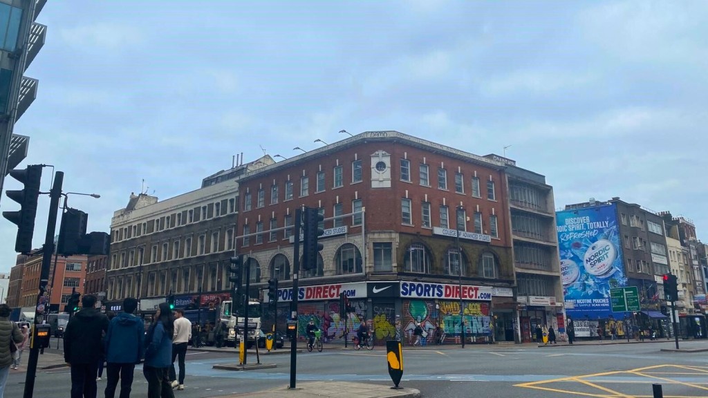
POLYGON ((147 349, 142 373, 147 380, 148 398, 174 398, 169 377, 173 331, 174 317, 170 305, 161 302, 145 337, 147 349))

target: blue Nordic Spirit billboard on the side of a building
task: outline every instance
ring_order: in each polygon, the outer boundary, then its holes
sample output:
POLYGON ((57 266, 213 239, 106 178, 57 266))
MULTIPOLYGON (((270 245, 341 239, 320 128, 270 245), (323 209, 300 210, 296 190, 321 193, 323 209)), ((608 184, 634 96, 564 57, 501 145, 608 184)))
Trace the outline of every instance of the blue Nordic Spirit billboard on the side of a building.
POLYGON ((556 212, 566 314, 573 319, 615 319, 610 289, 627 285, 615 205, 556 212))

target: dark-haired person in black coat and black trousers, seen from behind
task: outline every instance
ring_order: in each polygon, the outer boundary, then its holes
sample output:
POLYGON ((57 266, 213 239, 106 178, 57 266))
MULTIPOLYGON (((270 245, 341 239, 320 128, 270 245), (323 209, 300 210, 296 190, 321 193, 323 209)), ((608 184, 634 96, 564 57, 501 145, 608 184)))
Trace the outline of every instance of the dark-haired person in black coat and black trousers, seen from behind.
POLYGON ((108 317, 95 308, 96 296, 81 297, 81 310, 64 331, 64 360, 72 368, 72 398, 96 397, 98 358, 103 356, 103 333, 108 317))

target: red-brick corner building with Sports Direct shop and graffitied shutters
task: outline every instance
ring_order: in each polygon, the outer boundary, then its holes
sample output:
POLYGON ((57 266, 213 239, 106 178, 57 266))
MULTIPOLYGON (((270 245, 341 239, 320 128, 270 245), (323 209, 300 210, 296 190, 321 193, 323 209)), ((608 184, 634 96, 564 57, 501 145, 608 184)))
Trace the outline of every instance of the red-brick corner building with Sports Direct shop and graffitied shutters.
POLYGON ((352 331, 365 319, 377 341, 394 338, 399 327, 409 343, 419 322, 428 343, 437 326, 447 342, 459 342, 462 305, 468 343, 506 340, 492 322, 518 317, 509 311, 515 277, 505 170, 502 161, 381 131, 245 174, 236 251, 250 258, 251 291, 278 279, 275 316, 284 329, 296 210, 313 207, 324 215, 324 249, 314 269, 300 267, 301 334, 315 319, 326 339, 336 339, 345 324, 352 331), (340 292, 353 307, 346 319, 340 292))

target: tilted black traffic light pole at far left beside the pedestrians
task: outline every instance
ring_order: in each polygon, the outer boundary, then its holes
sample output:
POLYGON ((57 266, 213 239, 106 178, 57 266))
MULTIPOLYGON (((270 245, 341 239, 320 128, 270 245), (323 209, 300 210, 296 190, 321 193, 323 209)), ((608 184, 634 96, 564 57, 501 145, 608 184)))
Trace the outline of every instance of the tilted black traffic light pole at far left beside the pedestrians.
MULTIPOLYGON (((62 196, 62 183, 64 183, 64 172, 57 171, 55 173, 52 191, 50 191, 51 200, 49 217, 47 217, 47 234, 45 235, 45 244, 42 247, 42 269, 40 271, 40 285, 37 295, 37 305, 35 307, 35 325, 41 323, 39 322, 39 317, 44 313, 44 308, 40 309, 40 305, 44 304, 42 303, 42 297, 44 297, 47 291, 49 268, 52 266, 52 253, 55 249, 54 234, 57 229, 57 212, 59 211, 59 198, 62 196)), ((49 302, 47 301, 44 305, 49 305, 49 302)), ((27 363, 24 398, 32 398, 35 389, 35 376, 37 374, 37 362, 39 360, 40 350, 34 343, 34 337, 35 336, 32 337, 32 343, 30 344, 30 359, 27 363)))

